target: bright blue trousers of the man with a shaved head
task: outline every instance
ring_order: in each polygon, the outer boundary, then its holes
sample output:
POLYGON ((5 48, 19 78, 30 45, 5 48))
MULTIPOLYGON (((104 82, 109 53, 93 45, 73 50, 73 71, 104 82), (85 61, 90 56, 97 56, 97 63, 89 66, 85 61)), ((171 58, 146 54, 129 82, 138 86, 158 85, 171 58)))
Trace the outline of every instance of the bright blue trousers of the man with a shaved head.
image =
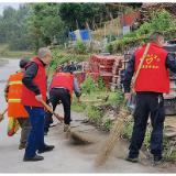
POLYGON ((26 107, 24 109, 29 113, 31 123, 31 131, 28 139, 28 146, 25 148, 25 155, 33 157, 36 155, 36 151, 43 148, 44 143, 44 108, 40 107, 26 107))

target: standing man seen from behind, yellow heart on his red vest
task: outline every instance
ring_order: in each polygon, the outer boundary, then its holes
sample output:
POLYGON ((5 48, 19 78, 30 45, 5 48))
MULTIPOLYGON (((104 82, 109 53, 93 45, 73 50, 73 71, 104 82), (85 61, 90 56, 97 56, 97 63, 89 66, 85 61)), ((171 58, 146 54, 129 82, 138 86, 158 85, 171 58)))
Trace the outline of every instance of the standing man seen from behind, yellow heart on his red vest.
MULTIPOLYGON (((154 32, 150 36, 150 48, 142 68, 135 80, 135 111, 134 125, 132 132, 131 144, 127 161, 138 162, 140 148, 144 141, 146 123, 148 116, 153 131, 151 134, 151 153, 153 154, 153 163, 161 164, 162 151, 164 150, 163 129, 165 120, 165 107, 163 94, 169 94, 169 73, 168 69, 176 73, 176 61, 162 48, 164 36, 161 32, 154 32)), ((128 63, 128 67, 123 77, 123 87, 125 99, 130 99, 130 85, 133 74, 136 73, 141 62, 141 57, 146 48, 146 44, 142 48, 138 48, 128 63)))

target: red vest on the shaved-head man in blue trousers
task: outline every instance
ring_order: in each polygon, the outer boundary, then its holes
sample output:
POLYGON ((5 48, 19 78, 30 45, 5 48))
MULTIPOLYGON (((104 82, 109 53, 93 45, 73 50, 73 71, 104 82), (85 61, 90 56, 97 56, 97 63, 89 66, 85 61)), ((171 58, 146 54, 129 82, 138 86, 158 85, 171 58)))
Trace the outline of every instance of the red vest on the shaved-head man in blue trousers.
MULTIPOLYGON (((41 94, 43 96, 43 100, 46 102, 46 74, 45 74, 45 67, 40 62, 38 58, 34 58, 32 62, 38 64, 38 69, 36 76, 32 79, 32 81, 38 86, 41 94)), ((44 107, 42 102, 37 101, 35 99, 35 94, 28 89, 24 85, 22 87, 22 97, 21 97, 21 103, 23 106, 30 106, 30 107, 44 107)))

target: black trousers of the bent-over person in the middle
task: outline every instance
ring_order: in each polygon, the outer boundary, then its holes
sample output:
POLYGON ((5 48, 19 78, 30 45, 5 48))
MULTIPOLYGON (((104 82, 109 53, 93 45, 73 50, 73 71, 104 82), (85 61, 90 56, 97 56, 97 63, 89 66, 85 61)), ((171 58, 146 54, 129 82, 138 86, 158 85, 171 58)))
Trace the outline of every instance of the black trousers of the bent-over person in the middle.
MULTIPOLYGON (((70 122, 70 94, 65 88, 53 88, 50 92, 50 101, 53 105, 53 111, 55 111, 58 101, 62 101, 64 107, 64 123, 69 125, 70 122)), ((53 122, 52 113, 47 111, 45 113, 45 127, 44 131, 48 132, 50 123, 53 122)))

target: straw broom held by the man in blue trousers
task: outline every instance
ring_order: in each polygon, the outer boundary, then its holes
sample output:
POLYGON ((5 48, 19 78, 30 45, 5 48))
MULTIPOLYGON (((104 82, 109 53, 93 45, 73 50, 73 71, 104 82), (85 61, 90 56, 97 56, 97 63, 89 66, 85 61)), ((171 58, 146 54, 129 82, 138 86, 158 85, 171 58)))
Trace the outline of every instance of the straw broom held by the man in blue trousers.
POLYGON ((45 106, 45 108, 51 113, 53 113, 61 121, 61 123, 64 125, 65 131, 67 132, 68 139, 72 139, 76 142, 84 142, 84 143, 94 143, 95 142, 95 140, 91 140, 91 139, 80 134, 79 132, 74 131, 69 125, 65 124, 63 122, 62 118, 57 113, 55 113, 43 100, 41 102, 45 106))

